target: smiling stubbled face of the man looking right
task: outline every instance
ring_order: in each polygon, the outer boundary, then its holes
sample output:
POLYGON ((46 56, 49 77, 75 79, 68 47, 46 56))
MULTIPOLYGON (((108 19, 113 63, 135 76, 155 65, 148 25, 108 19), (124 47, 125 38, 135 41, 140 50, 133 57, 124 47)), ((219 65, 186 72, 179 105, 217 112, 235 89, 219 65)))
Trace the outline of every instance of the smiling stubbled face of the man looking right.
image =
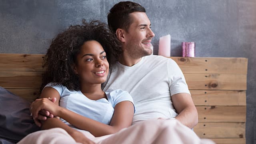
POLYGON ((150 42, 155 34, 150 28, 148 16, 145 12, 133 12, 130 17, 132 24, 128 31, 124 31, 124 54, 134 59, 152 54, 150 42))

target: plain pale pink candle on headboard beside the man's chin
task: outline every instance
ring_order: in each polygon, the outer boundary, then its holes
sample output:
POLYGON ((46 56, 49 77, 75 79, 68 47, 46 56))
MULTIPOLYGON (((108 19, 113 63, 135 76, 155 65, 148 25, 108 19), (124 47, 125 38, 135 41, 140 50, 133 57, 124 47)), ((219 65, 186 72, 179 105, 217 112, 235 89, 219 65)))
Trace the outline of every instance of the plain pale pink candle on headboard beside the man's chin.
POLYGON ((171 36, 170 34, 159 38, 158 55, 170 57, 171 56, 171 36))

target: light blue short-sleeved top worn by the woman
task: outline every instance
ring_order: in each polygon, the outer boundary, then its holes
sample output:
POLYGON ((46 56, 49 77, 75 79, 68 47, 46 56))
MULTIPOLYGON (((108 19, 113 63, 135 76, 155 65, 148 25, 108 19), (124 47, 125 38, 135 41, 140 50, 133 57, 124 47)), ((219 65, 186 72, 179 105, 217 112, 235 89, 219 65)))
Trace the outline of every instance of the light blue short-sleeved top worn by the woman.
MULTIPOLYGON (((61 84, 52 86, 52 83, 48 83, 45 87, 47 86, 50 86, 59 92, 61 107, 108 125, 110 124, 111 118, 114 114, 114 107, 116 104, 122 101, 130 101, 132 104, 134 104, 130 94, 120 89, 105 92, 108 99, 101 98, 99 100, 91 100, 87 98, 80 90, 68 90, 66 86, 61 84)), ((62 122, 68 126, 75 128, 66 120, 62 118, 60 118, 60 120, 62 120, 62 122)))

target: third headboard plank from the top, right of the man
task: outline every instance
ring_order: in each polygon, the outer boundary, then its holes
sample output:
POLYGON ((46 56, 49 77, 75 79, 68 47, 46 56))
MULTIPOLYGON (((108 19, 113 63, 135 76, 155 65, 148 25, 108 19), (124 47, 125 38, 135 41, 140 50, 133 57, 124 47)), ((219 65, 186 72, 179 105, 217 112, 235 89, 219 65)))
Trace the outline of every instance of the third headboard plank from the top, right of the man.
POLYGON ((196 106, 246 106, 246 91, 190 90, 196 106))

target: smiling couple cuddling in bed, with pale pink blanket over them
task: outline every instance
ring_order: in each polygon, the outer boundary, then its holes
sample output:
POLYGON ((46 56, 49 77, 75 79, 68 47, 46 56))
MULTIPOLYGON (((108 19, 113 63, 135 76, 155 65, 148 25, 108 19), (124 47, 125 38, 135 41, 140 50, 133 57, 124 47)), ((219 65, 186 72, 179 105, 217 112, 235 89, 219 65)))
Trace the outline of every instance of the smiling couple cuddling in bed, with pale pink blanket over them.
POLYGON ((43 130, 19 143, 212 143, 190 130, 198 114, 178 65, 150 55, 145 9, 119 2, 108 27, 83 22, 52 41, 30 106, 43 130))

